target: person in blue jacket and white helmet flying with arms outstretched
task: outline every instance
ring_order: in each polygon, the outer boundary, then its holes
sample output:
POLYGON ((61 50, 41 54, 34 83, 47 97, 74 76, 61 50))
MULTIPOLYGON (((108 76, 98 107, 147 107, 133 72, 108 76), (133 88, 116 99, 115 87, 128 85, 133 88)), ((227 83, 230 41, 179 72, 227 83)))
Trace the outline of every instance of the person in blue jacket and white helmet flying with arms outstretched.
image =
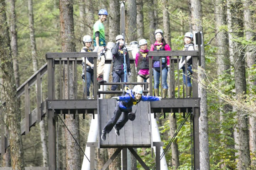
POLYGON ((112 98, 115 98, 119 102, 117 102, 113 117, 102 130, 101 140, 103 141, 106 140, 106 134, 108 134, 113 128, 115 129, 116 135, 119 136, 119 130, 124 127, 128 119, 132 121, 135 119, 135 113, 132 113, 132 105, 136 105, 140 101, 159 101, 162 97, 143 96, 142 87, 140 85, 136 85, 132 90, 127 90, 124 96, 112 98), (124 114, 122 118, 118 120, 122 112, 124 112, 124 114))

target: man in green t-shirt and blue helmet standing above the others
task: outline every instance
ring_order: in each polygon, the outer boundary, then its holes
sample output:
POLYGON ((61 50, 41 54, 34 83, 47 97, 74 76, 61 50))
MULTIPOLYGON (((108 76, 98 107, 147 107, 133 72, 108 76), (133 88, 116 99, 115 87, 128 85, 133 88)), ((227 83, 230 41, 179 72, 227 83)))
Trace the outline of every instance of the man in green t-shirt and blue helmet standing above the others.
POLYGON ((94 40, 94 51, 98 52, 97 60, 97 81, 99 83, 104 83, 103 80, 104 64, 105 64, 105 50, 106 40, 105 40, 105 28, 103 22, 106 21, 108 12, 105 9, 99 10, 99 20, 93 25, 93 40, 94 40))

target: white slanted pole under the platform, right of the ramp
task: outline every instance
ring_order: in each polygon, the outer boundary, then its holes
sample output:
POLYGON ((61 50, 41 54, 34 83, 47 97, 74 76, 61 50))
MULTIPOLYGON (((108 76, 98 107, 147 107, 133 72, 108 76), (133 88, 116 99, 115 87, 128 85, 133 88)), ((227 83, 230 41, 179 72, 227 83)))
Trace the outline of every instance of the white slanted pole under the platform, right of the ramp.
MULTIPOLYGON (((154 118, 154 113, 151 113, 151 126, 152 126, 152 138, 153 142, 161 142, 161 137, 159 134, 158 126, 156 123, 156 119, 154 118)), ((156 155, 156 147, 154 146, 154 152, 156 155)), ((163 147, 161 146, 160 155, 163 153, 163 147)), ((167 163, 165 156, 163 155, 162 159, 160 160, 160 169, 161 170, 168 170, 167 163)))

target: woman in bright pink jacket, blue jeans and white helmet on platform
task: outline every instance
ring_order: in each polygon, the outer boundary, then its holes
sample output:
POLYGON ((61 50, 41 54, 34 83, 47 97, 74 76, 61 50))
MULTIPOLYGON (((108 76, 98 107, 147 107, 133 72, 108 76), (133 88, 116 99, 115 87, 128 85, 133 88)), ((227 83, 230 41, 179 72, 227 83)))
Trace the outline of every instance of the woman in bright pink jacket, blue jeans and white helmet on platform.
MULTIPOLYGON (((156 29, 155 31, 156 41, 151 45, 150 51, 171 51, 171 48, 163 38, 163 31, 161 29, 156 29)), ((153 58, 153 57, 152 57, 153 58)), ((167 85, 167 73, 169 65, 169 56, 158 56, 154 57, 153 60, 153 76, 154 76, 154 93, 155 96, 159 95, 159 84, 160 84, 160 60, 162 60, 162 88, 163 88, 163 98, 167 96, 168 85, 167 85)))

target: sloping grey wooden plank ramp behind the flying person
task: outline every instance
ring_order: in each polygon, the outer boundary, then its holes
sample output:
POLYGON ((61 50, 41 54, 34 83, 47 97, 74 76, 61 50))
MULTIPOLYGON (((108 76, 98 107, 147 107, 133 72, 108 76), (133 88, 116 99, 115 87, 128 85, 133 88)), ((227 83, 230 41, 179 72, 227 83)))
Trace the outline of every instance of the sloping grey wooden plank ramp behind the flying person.
MULTIPOLYGON (((120 136, 117 136, 114 129, 112 129, 109 134, 106 135, 105 141, 102 141, 100 138, 102 129, 113 116, 117 101, 114 99, 100 99, 98 102, 99 148, 153 146, 150 133, 150 117, 148 114, 151 113, 150 102, 140 102, 137 106, 133 106, 133 112, 135 112, 137 107, 135 120, 127 121, 125 126, 120 130, 120 136)), ((121 117, 122 115, 120 118, 121 117)))

